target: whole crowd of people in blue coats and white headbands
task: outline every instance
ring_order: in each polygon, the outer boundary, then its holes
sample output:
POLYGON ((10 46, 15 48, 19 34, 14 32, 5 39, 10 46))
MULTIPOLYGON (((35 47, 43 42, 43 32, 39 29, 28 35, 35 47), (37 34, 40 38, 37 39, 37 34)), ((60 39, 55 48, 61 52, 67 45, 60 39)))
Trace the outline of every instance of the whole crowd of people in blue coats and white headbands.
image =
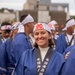
POLYGON ((35 23, 30 14, 19 22, 2 22, 0 75, 75 75, 75 20, 68 19, 63 33, 58 22, 35 23))

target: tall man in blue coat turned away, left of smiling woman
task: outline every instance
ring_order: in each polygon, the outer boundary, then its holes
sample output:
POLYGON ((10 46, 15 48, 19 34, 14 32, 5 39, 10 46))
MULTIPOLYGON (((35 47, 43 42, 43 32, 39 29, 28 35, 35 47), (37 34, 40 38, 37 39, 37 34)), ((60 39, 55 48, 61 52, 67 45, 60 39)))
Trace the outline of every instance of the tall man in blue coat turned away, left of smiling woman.
POLYGON ((16 63, 25 50, 32 48, 28 40, 28 35, 33 31, 34 19, 30 14, 23 15, 21 16, 20 22, 20 24, 24 26, 24 32, 19 32, 13 40, 13 53, 16 63))

